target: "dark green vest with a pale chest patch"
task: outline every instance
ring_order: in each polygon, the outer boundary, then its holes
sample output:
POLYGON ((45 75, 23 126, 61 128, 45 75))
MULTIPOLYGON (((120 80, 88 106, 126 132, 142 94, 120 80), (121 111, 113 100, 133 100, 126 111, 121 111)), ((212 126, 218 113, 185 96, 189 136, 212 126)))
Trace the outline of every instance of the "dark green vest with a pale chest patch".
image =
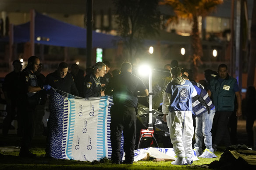
POLYGON ((210 81, 210 91, 216 111, 234 111, 235 92, 233 90, 237 80, 229 75, 219 82, 218 76, 210 81))

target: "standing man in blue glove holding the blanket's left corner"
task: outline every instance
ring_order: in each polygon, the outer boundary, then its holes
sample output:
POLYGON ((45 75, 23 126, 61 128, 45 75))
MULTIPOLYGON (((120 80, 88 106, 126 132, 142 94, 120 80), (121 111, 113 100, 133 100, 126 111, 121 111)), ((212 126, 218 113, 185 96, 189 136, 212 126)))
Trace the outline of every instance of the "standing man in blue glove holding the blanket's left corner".
POLYGON ((22 141, 19 156, 36 157, 29 151, 32 141, 32 132, 34 124, 34 115, 36 105, 39 104, 39 91, 49 90, 50 85, 39 86, 36 75, 34 74, 39 68, 40 60, 36 56, 28 59, 28 66, 21 71, 19 78, 19 102, 21 103, 21 120, 22 120, 22 141))

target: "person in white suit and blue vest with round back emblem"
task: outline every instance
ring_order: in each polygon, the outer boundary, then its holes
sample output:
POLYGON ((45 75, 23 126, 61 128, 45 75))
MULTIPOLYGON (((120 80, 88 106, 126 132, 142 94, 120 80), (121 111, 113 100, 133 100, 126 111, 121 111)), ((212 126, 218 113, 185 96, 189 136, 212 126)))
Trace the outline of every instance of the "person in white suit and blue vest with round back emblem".
POLYGON ((164 121, 170 131, 176 160, 171 164, 187 165, 193 163, 192 138, 194 126, 192 120, 192 100, 196 96, 196 90, 192 83, 181 77, 181 69, 171 69, 173 80, 167 84, 164 92, 162 111, 164 121))

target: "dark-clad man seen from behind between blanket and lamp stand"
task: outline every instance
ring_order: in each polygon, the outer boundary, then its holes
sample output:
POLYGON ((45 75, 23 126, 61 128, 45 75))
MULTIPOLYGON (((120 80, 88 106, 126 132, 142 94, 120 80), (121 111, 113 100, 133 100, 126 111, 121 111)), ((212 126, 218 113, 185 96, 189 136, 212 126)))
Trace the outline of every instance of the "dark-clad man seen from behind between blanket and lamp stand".
POLYGON ((105 90, 106 95, 113 94, 110 110, 110 141, 112 163, 120 164, 121 134, 124 134, 125 160, 122 163, 133 164, 136 138, 137 97, 149 95, 149 91, 137 76, 132 74, 132 65, 124 62, 121 73, 114 76, 105 90), (112 91, 113 90, 113 91, 112 91))

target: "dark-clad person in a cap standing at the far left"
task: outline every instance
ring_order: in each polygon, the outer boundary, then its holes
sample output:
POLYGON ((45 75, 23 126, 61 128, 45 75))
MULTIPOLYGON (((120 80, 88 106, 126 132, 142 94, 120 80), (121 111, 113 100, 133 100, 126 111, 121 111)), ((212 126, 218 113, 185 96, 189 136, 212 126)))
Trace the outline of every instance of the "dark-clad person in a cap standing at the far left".
POLYGON ((4 118, 3 121, 3 135, 7 136, 9 129, 11 128, 11 122, 14 120, 17 114, 17 121, 18 121, 18 131, 17 134, 21 135, 21 122, 20 122, 20 114, 18 109, 18 101, 17 101, 17 94, 18 94, 18 80, 21 73, 22 62, 16 59, 12 62, 14 66, 14 71, 7 74, 4 78, 3 83, 3 92, 4 97, 7 102, 7 116, 4 118))

